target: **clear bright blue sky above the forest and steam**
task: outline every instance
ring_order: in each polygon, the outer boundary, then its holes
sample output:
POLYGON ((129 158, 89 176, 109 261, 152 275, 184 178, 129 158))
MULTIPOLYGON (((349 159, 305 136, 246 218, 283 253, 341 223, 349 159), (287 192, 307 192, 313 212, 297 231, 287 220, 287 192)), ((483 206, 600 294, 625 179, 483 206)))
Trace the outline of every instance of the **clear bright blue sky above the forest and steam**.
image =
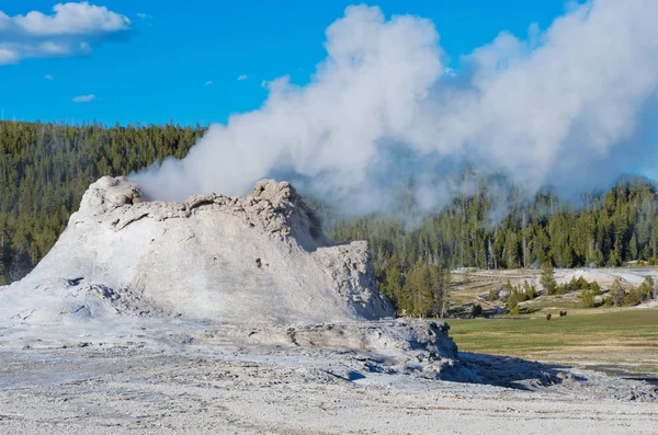
MULTIPOLYGON (((231 113, 261 105, 268 94, 261 87, 263 80, 291 75, 294 83, 307 82, 325 58, 325 30, 354 2, 90 3, 129 19, 128 30, 95 36, 91 53, 0 65, 0 108, 5 119, 225 123, 231 113), (238 80, 240 76, 247 78, 238 80), (91 101, 73 101, 80 96, 91 101)), ((9 18, 31 11, 53 14, 55 4, 0 0, 0 11, 9 18)), ((461 55, 491 42, 499 32, 524 38, 531 23, 545 28, 565 11, 561 0, 382 0, 368 4, 379 5, 387 16, 410 13, 432 20, 455 68, 461 55)), ((0 33, 0 43, 2 37, 0 33)))

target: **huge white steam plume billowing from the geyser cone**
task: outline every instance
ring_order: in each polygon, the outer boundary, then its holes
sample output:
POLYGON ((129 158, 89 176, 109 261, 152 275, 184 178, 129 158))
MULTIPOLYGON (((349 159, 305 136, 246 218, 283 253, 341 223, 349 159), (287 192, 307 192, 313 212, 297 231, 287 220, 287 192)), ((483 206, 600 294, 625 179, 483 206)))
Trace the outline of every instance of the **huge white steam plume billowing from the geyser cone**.
POLYGON ((183 160, 133 175, 150 196, 243 194, 269 175, 372 211, 413 176, 419 204, 447 201, 461 162, 534 191, 587 188, 639 170, 658 84, 658 2, 574 4, 526 39, 501 33, 446 73, 431 21, 349 7, 327 28, 309 84, 269 83, 257 111, 213 125, 183 160))

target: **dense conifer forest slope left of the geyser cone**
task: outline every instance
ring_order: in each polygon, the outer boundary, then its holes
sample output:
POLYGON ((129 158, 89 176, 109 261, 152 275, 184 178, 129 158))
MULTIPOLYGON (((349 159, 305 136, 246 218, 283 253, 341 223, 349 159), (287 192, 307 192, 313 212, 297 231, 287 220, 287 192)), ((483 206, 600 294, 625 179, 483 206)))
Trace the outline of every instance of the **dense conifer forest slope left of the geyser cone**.
POLYGON ((0 122, 0 285, 50 250, 89 184, 184 157, 204 128, 0 122))

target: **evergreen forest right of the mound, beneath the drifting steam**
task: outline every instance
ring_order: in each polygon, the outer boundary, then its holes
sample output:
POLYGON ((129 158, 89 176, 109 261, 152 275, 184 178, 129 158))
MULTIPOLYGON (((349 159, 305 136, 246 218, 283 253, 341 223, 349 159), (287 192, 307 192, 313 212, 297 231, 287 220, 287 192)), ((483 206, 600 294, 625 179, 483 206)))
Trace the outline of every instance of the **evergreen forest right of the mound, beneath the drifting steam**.
POLYGON ((490 180, 476 184, 474 194, 454 198, 411 228, 382 214, 343 219, 322 210, 329 236, 370 242, 381 290, 398 310, 415 313, 407 279, 419 268, 658 264, 658 196, 650 180, 626 178, 606 192, 583 195, 579 207, 548 190, 529 201, 514 186, 500 198, 489 192, 490 180), (507 213, 496 219, 501 203, 507 213))

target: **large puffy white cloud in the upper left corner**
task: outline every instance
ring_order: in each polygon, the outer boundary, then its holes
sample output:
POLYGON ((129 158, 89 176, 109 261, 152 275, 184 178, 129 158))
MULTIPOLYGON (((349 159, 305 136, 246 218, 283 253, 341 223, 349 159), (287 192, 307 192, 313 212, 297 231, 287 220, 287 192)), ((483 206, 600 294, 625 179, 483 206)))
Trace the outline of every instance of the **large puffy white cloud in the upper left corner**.
POLYGON ((31 57, 87 55, 92 43, 131 27, 126 16, 86 1, 59 3, 53 12, 9 16, 0 11, 0 65, 31 57))

